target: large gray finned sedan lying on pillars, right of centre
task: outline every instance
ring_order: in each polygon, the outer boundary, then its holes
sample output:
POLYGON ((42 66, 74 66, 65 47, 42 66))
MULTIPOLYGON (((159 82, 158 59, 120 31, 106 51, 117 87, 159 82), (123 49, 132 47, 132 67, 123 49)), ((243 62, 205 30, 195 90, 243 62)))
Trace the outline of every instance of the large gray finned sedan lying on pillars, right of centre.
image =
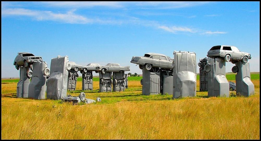
POLYGON ((146 53, 143 57, 132 57, 131 63, 138 64, 140 69, 145 66, 146 70, 152 67, 160 67, 165 69, 173 69, 173 58, 164 54, 146 53))

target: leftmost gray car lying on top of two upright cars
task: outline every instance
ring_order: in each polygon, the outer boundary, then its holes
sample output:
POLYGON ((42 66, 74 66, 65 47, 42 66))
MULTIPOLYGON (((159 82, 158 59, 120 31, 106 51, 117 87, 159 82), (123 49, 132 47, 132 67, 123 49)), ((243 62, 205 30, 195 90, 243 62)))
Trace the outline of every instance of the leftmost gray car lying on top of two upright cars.
POLYGON ((35 56, 32 53, 28 52, 20 52, 17 54, 14 60, 14 65, 17 70, 19 70, 20 66, 28 67, 29 65, 37 62, 38 60, 43 61, 42 57, 35 56))

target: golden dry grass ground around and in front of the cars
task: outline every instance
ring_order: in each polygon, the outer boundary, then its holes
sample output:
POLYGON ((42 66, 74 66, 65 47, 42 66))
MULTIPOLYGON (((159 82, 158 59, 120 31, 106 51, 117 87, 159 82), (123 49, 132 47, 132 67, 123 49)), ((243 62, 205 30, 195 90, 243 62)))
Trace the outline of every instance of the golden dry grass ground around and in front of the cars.
MULTIPOLYGON (((111 93, 94 81, 86 97, 102 102, 86 105, 16 98, 17 83, 2 82, 1 139, 260 139, 259 77, 252 82, 250 97, 208 98, 198 81, 196 97, 172 99, 141 95, 139 80, 111 93)), ((79 95, 81 82, 76 89, 68 94, 79 95)))

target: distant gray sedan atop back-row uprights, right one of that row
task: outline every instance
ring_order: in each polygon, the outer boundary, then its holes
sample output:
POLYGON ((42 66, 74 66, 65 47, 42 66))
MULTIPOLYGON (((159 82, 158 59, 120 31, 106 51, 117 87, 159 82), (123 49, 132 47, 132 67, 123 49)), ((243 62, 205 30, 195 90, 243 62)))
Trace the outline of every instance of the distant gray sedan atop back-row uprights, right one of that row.
POLYGON ((130 71, 130 66, 120 66, 120 64, 112 64, 108 63, 105 66, 97 66, 96 71, 101 71, 103 74, 106 73, 106 71, 130 71))

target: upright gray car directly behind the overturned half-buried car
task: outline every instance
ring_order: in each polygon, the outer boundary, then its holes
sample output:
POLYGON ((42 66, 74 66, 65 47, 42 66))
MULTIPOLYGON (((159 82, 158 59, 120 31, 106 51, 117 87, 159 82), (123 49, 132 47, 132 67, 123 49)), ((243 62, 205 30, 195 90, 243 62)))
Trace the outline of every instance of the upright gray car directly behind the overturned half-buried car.
POLYGON ((52 58, 47 80, 47 98, 61 99, 67 95, 68 70, 72 68, 68 56, 52 58))

